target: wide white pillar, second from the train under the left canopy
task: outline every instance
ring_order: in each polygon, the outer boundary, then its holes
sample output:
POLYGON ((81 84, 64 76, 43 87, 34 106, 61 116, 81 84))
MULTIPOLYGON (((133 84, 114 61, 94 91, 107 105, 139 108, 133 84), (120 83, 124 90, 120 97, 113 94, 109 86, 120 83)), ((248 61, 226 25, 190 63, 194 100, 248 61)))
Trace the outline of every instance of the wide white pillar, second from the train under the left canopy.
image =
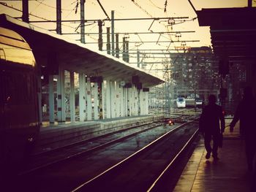
POLYGON ((65 74, 64 70, 59 66, 59 75, 57 81, 57 107, 58 107, 58 123, 64 123, 66 121, 65 114, 65 93, 64 93, 64 85, 65 85, 65 74))

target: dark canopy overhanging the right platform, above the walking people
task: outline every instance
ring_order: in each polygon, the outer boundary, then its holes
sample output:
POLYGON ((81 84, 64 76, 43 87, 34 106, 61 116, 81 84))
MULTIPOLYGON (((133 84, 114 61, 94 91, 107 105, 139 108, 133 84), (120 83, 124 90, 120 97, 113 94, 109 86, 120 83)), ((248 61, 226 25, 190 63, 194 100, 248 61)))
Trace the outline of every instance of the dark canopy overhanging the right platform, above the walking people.
POLYGON ((219 58, 255 60, 255 7, 202 9, 197 18, 200 26, 210 26, 211 44, 219 58))

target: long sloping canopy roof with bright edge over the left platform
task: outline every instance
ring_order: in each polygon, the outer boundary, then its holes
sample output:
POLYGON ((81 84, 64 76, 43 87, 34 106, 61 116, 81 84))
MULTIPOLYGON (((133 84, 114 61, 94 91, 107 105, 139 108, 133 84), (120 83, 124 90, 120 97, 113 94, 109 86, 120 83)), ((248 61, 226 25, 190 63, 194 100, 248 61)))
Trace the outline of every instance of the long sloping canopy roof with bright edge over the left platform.
POLYGON ((151 87, 164 82, 160 77, 149 74, 138 67, 132 67, 119 58, 99 50, 91 50, 80 42, 24 23, 9 15, 0 15, 0 26, 16 31, 26 39, 37 64, 48 68, 50 73, 56 73, 61 64, 68 71, 84 72, 94 77, 101 76, 104 80, 132 82, 132 76, 137 76, 143 87, 151 87))

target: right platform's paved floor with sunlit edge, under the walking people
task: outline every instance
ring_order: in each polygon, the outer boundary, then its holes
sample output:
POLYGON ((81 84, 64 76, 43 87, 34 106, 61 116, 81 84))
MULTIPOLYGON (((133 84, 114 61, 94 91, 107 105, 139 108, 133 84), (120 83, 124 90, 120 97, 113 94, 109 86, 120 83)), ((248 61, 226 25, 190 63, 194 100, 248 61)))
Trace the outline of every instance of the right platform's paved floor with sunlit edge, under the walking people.
MULTIPOLYGON (((230 120, 226 120, 229 125, 230 120)), ((181 174, 173 192, 255 192, 255 172, 247 170, 245 143, 239 136, 238 123, 230 133, 225 129, 219 160, 206 159, 203 137, 181 174)))

